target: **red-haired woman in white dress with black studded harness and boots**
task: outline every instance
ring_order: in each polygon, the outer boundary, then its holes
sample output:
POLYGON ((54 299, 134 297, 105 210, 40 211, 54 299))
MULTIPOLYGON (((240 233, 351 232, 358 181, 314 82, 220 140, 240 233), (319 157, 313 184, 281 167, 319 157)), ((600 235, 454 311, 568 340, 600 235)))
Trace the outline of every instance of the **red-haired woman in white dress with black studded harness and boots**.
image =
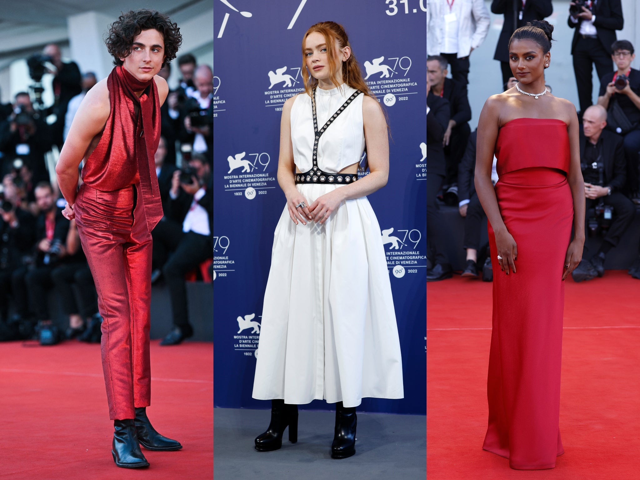
MULTIPOLYGON (((362 397, 402 398, 403 380, 380 225, 365 195, 388 177, 387 122, 335 22, 303 37, 305 92, 282 109, 275 230, 253 397, 271 399, 255 439, 270 451, 298 435, 298 404, 336 403, 333 458, 355 454, 362 397), (367 150, 370 173, 358 178, 367 150)), ((367 168, 365 165, 364 168, 367 168)))

